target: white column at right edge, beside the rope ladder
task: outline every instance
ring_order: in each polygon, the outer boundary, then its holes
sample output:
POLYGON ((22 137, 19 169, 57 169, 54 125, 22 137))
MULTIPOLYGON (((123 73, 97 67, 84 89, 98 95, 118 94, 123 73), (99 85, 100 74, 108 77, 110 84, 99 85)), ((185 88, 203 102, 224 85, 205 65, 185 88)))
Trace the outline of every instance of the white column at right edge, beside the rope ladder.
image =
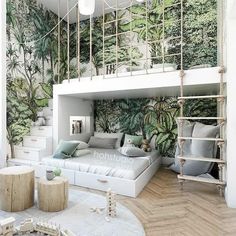
POLYGON ((227 188, 226 201, 236 208, 236 1, 226 7, 227 188))

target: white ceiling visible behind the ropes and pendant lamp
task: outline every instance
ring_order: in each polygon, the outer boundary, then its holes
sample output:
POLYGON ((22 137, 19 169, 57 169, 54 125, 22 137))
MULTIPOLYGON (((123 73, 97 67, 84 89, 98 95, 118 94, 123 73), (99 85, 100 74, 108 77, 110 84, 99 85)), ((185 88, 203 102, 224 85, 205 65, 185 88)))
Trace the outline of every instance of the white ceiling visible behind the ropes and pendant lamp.
MULTIPOLYGON (((60 1, 60 16, 63 17, 67 13, 67 0, 37 0, 37 1, 39 4, 43 4, 45 8, 51 10, 56 15, 58 13, 58 2, 60 1)), ((78 2, 78 0, 68 0, 68 1, 69 1, 70 9, 73 6, 75 6, 76 3, 78 2)), ((95 1, 96 1, 96 7, 95 7, 95 12, 93 14, 94 17, 100 16, 103 14, 103 0, 95 0, 95 1)), ((130 5, 130 2, 132 2, 132 0, 117 0, 117 1, 118 1, 119 6, 122 8, 128 7, 130 5)), ((113 7, 116 5, 116 0, 106 0, 106 2, 110 6, 113 6, 113 7)), ((137 3, 135 0, 133 2, 137 3)), ((109 7, 105 4, 105 8, 109 8, 109 7)), ((106 12, 111 12, 111 11, 113 11, 113 9, 106 9, 106 12)), ((85 20, 88 18, 89 16, 81 15, 81 20, 85 20)), ((77 22, 76 8, 74 8, 70 12, 70 23, 72 24, 75 22, 77 22)))

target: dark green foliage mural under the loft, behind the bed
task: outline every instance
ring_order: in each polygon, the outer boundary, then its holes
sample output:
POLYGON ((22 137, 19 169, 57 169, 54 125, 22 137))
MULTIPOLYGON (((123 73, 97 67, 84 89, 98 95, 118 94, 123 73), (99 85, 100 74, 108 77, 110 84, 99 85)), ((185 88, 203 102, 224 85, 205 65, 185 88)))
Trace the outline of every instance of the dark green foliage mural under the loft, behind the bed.
MULTIPOLYGON (((186 116, 217 115, 217 102, 214 99, 186 102, 186 116)), ((95 102, 95 130, 143 135, 149 140, 154 138, 161 155, 173 157, 177 139, 175 119, 178 115, 176 97, 99 100, 95 102)))

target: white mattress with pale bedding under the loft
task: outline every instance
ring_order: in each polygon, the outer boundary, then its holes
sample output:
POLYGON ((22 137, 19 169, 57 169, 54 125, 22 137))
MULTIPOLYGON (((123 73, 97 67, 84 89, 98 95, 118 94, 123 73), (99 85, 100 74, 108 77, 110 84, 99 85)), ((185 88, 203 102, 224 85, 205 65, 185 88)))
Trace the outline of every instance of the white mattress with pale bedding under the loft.
POLYGON ((64 160, 47 157, 42 162, 47 166, 133 180, 159 158, 156 150, 144 157, 135 158, 123 156, 114 149, 89 148, 89 150, 91 154, 85 156, 64 160))

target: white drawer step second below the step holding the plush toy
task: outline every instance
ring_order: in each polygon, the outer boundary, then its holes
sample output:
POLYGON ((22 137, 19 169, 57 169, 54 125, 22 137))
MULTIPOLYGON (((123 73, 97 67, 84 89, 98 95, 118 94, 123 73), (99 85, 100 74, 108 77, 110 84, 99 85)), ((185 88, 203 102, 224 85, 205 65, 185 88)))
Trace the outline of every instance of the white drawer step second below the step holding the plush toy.
POLYGON ((49 156, 50 153, 46 149, 15 146, 15 158, 41 161, 42 157, 49 156))

